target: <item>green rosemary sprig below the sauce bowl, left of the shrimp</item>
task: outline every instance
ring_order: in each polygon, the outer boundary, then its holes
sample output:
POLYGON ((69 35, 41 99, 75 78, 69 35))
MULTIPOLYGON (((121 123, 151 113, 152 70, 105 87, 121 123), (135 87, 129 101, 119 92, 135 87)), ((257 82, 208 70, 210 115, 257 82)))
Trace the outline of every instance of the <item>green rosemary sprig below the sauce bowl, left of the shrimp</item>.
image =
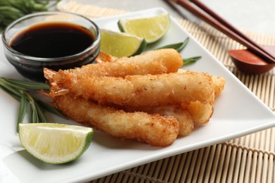
POLYGON ((13 98, 20 101, 17 120, 18 124, 23 122, 28 106, 30 106, 30 122, 49 122, 47 115, 45 115, 45 111, 49 111, 50 113, 59 115, 61 118, 67 119, 49 103, 41 101, 29 93, 30 90, 34 89, 49 89, 48 84, 0 77, 0 87, 13 96, 13 98))

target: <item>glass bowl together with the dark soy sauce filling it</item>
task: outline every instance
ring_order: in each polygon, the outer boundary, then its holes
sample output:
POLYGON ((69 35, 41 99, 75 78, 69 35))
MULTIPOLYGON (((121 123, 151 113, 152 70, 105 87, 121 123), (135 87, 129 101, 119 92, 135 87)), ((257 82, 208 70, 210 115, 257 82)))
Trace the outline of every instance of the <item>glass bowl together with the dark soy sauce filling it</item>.
MULTIPOLYGON (((36 13, 33 17, 37 18, 39 15, 42 13, 36 13)), ((72 23, 56 20, 35 23, 25 29, 18 25, 20 31, 16 34, 13 33, 17 31, 16 24, 20 24, 22 20, 11 24, 2 36, 6 58, 21 75, 39 82, 46 80, 44 68, 66 70, 92 63, 100 51, 99 28, 87 18, 73 16, 79 19, 79 24, 76 21, 72 23), (82 23, 85 26, 80 25, 82 23)))

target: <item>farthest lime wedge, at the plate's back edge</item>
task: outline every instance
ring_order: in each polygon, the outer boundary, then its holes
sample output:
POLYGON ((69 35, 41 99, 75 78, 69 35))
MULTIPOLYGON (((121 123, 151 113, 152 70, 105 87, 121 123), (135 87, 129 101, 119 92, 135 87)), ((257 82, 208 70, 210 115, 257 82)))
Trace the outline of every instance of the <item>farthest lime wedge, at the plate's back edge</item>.
POLYGON ((121 32, 145 38, 147 44, 157 42, 170 26, 169 13, 147 18, 125 18, 118 21, 121 32))

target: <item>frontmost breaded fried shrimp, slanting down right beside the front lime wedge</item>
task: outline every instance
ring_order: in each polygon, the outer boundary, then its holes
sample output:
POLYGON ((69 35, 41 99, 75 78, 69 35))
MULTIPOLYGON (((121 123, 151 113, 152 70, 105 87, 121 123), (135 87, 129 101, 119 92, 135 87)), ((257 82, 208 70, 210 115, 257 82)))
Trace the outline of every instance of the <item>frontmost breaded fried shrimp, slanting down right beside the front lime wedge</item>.
POLYGON ((178 137, 179 124, 171 116, 126 113, 69 95, 54 98, 54 105, 68 118, 114 137, 135 139, 151 146, 169 146, 178 137))

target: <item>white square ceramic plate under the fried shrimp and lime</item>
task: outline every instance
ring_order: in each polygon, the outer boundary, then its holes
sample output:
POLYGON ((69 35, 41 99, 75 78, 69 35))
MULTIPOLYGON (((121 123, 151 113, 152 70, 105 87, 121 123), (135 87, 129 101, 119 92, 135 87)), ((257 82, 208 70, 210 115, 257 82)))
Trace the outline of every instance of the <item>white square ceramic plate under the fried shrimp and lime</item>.
MULTIPOLYGON (((162 8, 97 19, 99 27, 117 30, 119 18, 140 17, 165 13, 162 8)), ((202 56, 200 61, 185 69, 209 72, 224 76, 226 87, 216 99, 215 110, 209 124, 195 130, 188 137, 178 138, 166 148, 152 147, 135 141, 109 137, 96 130, 90 148, 78 160, 64 165, 50 165, 33 158, 20 146, 16 134, 16 118, 19 103, 0 89, 0 180, 1 182, 85 182, 114 172, 174 156, 186 151, 227 141, 275 126, 275 115, 224 65, 204 49, 173 18, 169 32, 160 42, 162 46, 183 41, 190 37, 188 46, 181 52, 183 58, 202 56)), ((150 49, 148 46, 147 49, 150 49)), ((4 57, 0 46, 1 77, 23 79, 4 57)), ((55 122, 75 124, 72 121, 53 117, 55 122)))

